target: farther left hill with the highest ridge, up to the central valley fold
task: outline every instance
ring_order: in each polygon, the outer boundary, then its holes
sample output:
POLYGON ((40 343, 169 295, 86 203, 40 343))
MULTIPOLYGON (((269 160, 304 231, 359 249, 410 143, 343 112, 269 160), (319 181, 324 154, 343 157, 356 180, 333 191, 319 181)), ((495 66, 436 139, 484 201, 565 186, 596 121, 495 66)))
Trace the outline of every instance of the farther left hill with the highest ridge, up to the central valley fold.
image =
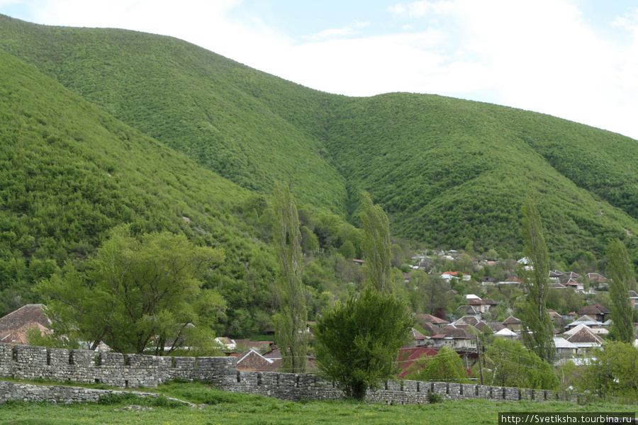
POLYGON ((303 203, 343 210, 342 176, 314 135, 325 94, 182 40, 127 30, 0 16, 0 49, 240 186, 270 193, 274 181, 286 182, 303 203))

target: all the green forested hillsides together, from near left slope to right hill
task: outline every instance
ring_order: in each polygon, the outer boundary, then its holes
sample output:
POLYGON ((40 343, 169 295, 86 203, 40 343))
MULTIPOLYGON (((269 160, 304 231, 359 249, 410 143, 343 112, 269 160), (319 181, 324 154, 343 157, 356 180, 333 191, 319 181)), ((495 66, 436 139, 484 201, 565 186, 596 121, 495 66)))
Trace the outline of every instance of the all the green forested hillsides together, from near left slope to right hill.
POLYGON ((1 15, 0 75, 0 314, 124 224, 223 249, 204 282, 227 303, 218 331, 268 331, 275 183, 298 201, 311 319, 362 282, 362 191, 391 220, 396 266, 418 246, 513 258, 528 197, 554 264, 592 265, 610 237, 638 261, 638 147, 622 135, 441 96, 325 94, 175 38, 1 15))

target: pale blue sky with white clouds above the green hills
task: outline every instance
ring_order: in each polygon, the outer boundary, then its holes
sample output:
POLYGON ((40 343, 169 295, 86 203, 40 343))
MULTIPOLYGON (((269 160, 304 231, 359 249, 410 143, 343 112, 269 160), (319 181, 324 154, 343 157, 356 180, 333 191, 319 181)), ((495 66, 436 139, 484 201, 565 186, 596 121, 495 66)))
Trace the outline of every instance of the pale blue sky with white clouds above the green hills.
POLYGON ((638 140, 638 0, 0 0, 171 35, 303 86, 497 103, 638 140))

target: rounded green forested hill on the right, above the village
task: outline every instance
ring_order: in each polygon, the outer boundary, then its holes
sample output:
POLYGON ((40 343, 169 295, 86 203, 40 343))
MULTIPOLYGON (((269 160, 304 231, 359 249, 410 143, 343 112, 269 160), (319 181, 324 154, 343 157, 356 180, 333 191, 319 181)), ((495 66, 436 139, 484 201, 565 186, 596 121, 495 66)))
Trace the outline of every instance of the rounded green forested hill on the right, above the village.
POLYGON ((600 253, 612 235, 637 231, 634 218, 605 201, 634 212, 638 146, 628 137, 417 94, 353 99, 340 118, 328 149, 349 184, 385 206, 394 234, 516 250, 527 196, 539 205, 550 249, 566 259, 581 249, 600 253), (610 186, 626 197, 613 198, 610 186))

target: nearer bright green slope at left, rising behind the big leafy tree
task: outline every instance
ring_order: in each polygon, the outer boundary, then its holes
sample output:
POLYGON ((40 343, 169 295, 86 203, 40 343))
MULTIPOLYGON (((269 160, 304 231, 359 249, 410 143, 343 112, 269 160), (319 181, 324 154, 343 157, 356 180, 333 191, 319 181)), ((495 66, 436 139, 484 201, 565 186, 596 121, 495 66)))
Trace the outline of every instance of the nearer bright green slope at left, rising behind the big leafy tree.
POLYGON ((232 214, 250 191, 1 50, 0 76, 0 315, 33 300, 35 281, 85 259, 122 223, 220 246, 225 263, 206 285, 234 309, 266 305, 268 278, 244 279, 264 245, 232 214))

